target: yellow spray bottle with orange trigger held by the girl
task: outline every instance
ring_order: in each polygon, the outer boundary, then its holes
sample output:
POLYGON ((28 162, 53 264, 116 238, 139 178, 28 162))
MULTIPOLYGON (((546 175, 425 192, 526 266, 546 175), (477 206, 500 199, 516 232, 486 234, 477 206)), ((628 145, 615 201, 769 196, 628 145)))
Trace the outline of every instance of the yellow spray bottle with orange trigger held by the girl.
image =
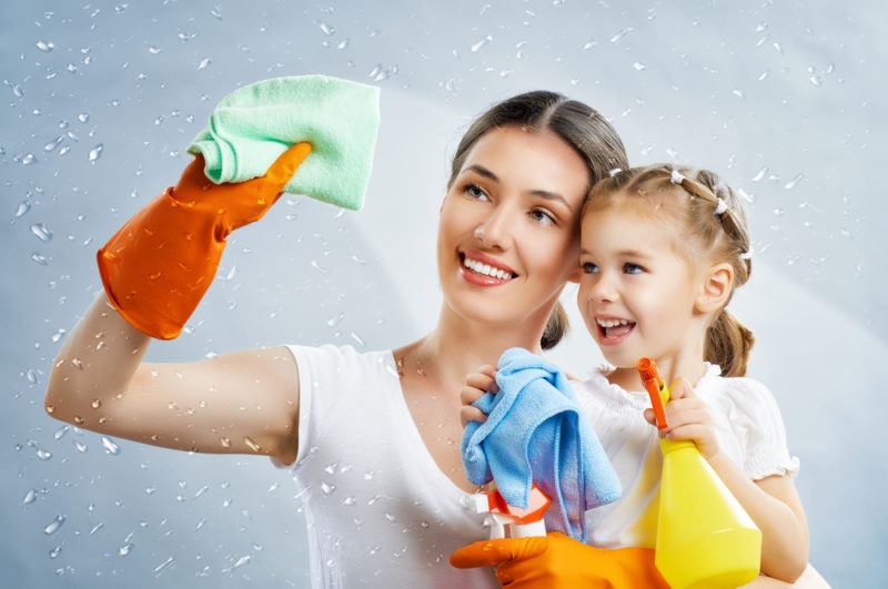
MULTIPOLYGON (((669 389, 650 358, 638 360, 657 428, 668 427, 669 389)), ((660 439, 654 563, 673 589, 739 587, 758 575, 761 531, 690 440, 660 439)))

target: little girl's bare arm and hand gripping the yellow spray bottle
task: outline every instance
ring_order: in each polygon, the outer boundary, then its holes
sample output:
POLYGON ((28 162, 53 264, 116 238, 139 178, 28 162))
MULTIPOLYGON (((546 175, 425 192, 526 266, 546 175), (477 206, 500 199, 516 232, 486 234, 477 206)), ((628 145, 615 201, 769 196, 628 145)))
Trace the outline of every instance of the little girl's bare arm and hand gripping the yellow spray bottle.
MULTIPOLYGON (((794 582, 808 563, 808 522, 791 476, 750 480, 718 447, 706 403, 684 378, 666 405, 669 439, 692 439, 725 486, 761 530, 761 571, 794 582)), ((653 412, 645 412, 653 423, 653 412)))

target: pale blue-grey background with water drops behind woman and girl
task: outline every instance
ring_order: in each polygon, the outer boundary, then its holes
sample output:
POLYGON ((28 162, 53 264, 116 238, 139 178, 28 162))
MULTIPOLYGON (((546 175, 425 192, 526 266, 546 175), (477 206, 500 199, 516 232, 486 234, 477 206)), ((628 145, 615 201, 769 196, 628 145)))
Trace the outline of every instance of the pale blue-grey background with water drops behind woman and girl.
MULTIPOLYGON (((3 586, 307 587, 286 473, 125 440, 110 454, 42 409, 99 288, 95 250, 175 181, 219 99, 301 73, 382 88, 365 211, 282 200, 230 240, 189 332, 150 359, 417 337, 440 304, 461 131, 513 93, 562 91, 609 116, 634 163, 710 166, 755 196, 755 271, 733 308, 801 458, 811 561, 836 587, 888 586, 885 22, 877 1, 4 2, 3 586)), ((555 357, 582 373, 599 356, 574 326, 555 357)))

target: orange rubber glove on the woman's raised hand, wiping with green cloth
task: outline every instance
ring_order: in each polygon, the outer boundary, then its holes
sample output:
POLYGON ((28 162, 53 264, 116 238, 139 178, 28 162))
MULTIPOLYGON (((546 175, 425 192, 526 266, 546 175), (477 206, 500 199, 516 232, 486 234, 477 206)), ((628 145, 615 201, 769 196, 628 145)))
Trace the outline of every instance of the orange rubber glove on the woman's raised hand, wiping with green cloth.
POLYGON ((312 148, 297 143, 265 175, 213 184, 198 155, 167 189, 99 250, 99 274, 114 308, 139 331, 172 339, 215 276, 225 237, 259 221, 312 148))

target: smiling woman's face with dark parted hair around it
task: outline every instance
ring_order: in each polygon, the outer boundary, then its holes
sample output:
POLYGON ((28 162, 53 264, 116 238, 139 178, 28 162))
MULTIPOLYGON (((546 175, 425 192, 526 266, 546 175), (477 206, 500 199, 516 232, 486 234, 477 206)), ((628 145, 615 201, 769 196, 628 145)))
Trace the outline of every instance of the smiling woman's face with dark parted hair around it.
POLYGON ((514 329, 542 325, 577 274, 579 211, 589 186, 581 156, 551 132, 483 135, 441 207, 437 262, 457 315, 514 329))

